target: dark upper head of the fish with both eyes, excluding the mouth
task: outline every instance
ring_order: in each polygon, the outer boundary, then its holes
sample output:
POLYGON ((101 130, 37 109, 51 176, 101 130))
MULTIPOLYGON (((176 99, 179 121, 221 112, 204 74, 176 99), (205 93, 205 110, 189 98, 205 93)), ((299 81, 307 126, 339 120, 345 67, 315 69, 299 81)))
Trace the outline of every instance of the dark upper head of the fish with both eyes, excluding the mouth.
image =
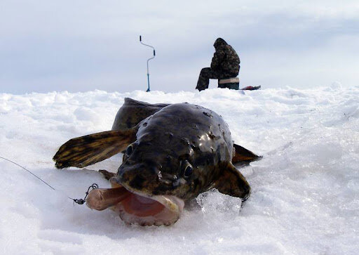
POLYGON ((118 183, 148 196, 172 195, 183 200, 196 197, 204 181, 204 166, 196 165, 194 149, 183 139, 171 138, 165 144, 163 136, 142 136, 128 145, 118 169, 118 183))

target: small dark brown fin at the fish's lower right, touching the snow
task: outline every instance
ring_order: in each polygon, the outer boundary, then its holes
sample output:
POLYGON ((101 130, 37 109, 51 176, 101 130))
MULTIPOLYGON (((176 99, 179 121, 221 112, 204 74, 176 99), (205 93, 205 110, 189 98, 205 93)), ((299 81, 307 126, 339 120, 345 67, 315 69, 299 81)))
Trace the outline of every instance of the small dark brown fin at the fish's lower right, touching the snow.
POLYGON ((250 196, 250 185, 245 177, 233 164, 228 164, 222 169, 222 173, 215 182, 215 188, 219 192, 232 197, 241 197, 243 201, 250 196))

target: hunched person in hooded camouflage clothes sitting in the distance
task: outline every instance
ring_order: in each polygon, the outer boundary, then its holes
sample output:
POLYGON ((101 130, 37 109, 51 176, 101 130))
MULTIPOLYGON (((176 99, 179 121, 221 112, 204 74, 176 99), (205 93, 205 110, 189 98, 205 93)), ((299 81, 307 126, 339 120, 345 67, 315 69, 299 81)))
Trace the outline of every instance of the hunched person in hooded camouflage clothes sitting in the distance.
MULTIPOLYGON (((210 79, 229 79, 237 77, 238 75, 241 60, 239 60, 239 57, 232 46, 227 44, 222 38, 217 38, 213 46, 215 46, 216 51, 213 55, 210 67, 203 68, 199 74, 196 86, 198 91, 208 89, 210 79)), ((238 84, 236 87, 228 88, 238 89, 238 84)))

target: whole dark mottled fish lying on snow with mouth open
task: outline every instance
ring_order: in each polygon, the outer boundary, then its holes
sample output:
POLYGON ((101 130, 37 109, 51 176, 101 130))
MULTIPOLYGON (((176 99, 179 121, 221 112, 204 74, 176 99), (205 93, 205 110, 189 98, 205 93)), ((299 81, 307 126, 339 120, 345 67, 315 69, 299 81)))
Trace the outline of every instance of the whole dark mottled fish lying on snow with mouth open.
POLYGON ((212 110, 125 98, 111 131, 72 138, 53 160, 57 169, 83 168, 121 152, 116 174, 100 170, 111 188, 91 190, 86 204, 139 225, 172 225, 185 202, 214 188, 247 200, 250 184, 234 164, 261 158, 234 144, 229 126, 212 110))

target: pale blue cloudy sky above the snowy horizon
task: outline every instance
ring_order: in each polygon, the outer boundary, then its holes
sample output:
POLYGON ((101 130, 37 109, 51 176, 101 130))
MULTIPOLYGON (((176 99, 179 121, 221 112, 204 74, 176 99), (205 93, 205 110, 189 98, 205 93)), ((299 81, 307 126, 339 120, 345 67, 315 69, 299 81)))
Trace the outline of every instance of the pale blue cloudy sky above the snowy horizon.
MULTIPOLYGON (((0 93, 194 91, 217 37, 240 86, 359 86, 359 1, 0 1, 0 93)), ((210 87, 216 87, 211 81, 210 87)))

